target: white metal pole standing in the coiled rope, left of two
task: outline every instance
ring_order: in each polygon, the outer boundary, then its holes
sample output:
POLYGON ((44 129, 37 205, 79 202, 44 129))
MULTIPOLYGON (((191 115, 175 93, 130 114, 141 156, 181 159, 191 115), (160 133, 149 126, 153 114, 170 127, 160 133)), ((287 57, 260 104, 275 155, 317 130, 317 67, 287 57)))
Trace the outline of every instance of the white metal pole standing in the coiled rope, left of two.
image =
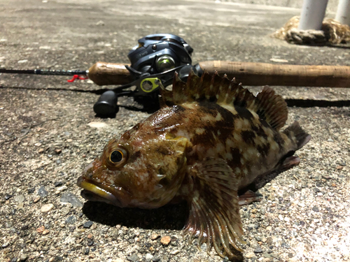
POLYGON ((328 0, 304 0, 300 14, 299 30, 321 30, 328 0))

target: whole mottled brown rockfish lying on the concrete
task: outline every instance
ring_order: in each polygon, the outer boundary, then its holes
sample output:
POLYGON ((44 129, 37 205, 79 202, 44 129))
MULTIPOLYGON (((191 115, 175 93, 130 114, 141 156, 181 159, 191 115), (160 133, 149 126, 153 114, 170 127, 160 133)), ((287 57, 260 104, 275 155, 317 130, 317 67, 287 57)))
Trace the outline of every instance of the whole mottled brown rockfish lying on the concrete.
MULTIPOLYGON (((309 140, 286 123, 286 102, 265 87, 257 96, 228 78, 190 73, 160 90, 161 108, 104 147, 78 179, 83 196, 119 207, 160 208, 186 200, 185 231, 221 256, 241 249, 239 199, 251 184, 297 165, 309 140)), ((253 197, 254 198, 254 197, 253 197)))

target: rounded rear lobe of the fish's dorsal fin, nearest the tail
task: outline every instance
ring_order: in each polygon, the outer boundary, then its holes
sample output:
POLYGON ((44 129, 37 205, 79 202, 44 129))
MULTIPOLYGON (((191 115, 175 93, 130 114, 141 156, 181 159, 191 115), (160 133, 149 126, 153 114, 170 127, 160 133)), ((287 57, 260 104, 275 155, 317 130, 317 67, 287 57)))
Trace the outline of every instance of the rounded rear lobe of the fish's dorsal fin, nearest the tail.
POLYGON ((260 119, 264 119, 277 131, 286 124, 288 119, 286 101, 268 86, 265 86, 262 92, 258 93, 255 103, 249 109, 255 111, 260 119))

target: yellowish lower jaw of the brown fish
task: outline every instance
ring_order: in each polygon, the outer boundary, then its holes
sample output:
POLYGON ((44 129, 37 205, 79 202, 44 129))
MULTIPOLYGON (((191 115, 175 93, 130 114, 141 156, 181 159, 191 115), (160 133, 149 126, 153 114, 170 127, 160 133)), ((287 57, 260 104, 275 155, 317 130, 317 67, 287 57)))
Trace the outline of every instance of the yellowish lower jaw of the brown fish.
POLYGON ((124 208, 127 204, 120 201, 114 194, 111 193, 108 186, 102 184, 95 184, 87 180, 85 177, 79 177, 77 181, 78 187, 84 189, 81 191, 81 196, 88 201, 99 201, 116 205, 124 208))

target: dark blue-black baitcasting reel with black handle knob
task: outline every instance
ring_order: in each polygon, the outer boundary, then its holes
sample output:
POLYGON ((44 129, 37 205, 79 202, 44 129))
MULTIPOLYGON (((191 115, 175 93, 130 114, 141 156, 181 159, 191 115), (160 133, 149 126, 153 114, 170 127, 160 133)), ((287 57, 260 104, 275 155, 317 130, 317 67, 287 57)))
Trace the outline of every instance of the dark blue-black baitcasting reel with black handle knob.
POLYGON ((152 34, 139 39, 139 45, 127 54, 131 66, 125 66, 134 81, 104 92, 94 104, 94 112, 100 117, 115 115, 119 108, 119 96, 133 96, 139 103, 158 103, 160 84, 164 87, 172 84, 175 71, 179 78, 186 81, 192 69, 197 75, 202 69, 192 66, 193 48, 173 34, 152 34), (134 90, 125 90, 135 86, 134 90))

